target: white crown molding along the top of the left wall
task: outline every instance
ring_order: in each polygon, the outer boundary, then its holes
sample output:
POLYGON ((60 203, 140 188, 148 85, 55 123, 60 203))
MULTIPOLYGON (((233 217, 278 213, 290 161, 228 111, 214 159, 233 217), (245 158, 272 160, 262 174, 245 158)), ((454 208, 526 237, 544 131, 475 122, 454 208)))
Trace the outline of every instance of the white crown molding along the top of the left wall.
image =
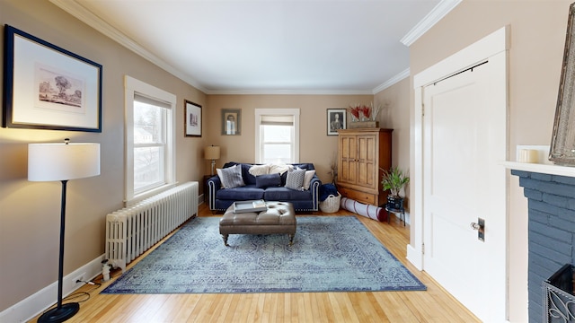
POLYGON ((191 86, 195 87, 201 92, 208 92, 198 81, 190 77, 190 75, 183 74, 174 68, 172 65, 164 62, 163 59, 156 57, 150 51, 146 50, 140 46, 136 41, 130 39, 124 33, 118 31, 116 28, 111 26, 108 22, 104 22, 102 18, 92 13, 90 10, 84 7, 84 5, 79 4, 75 0, 49 0, 52 4, 56 4, 60 9, 70 13, 75 18, 84 22, 88 26, 92 27, 96 31, 102 32, 105 36, 118 42, 120 45, 130 49, 137 55, 146 58, 148 61, 164 69, 164 71, 173 74, 177 78, 181 79, 185 83, 189 83, 191 86))

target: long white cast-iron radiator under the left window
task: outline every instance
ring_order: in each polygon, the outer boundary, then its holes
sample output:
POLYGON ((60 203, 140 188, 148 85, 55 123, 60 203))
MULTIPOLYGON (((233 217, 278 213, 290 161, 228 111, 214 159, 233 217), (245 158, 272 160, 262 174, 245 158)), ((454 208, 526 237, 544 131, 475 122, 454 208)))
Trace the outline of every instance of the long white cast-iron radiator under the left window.
POLYGON ((122 272, 181 223, 198 214, 198 182, 190 181, 106 215, 106 258, 122 272))

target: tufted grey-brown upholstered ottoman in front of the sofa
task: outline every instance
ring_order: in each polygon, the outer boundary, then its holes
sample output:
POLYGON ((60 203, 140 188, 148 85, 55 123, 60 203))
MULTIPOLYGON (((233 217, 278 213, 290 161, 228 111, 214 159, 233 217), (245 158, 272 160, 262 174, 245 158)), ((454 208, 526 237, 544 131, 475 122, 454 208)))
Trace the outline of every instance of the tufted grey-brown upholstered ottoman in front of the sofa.
POLYGON ((287 233, 289 245, 296 234, 296 212, 288 202, 266 202, 268 210, 261 212, 234 213, 234 205, 227 208, 219 220, 219 233, 227 244, 230 234, 287 233))

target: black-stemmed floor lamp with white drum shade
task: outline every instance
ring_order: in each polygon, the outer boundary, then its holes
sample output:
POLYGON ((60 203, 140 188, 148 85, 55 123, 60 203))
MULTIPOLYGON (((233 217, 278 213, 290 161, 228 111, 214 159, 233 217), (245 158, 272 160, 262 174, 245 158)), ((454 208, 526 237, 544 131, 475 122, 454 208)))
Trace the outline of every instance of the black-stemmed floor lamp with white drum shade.
POLYGON ((100 175, 100 144, 28 145, 28 180, 62 182, 60 205, 60 252, 57 272, 57 307, 47 310, 38 322, 63 322, 80 310, 80 304, 62 304, 64 274, 64 227, 66 223, 66 184, 69 179, 84 179, 100 175))

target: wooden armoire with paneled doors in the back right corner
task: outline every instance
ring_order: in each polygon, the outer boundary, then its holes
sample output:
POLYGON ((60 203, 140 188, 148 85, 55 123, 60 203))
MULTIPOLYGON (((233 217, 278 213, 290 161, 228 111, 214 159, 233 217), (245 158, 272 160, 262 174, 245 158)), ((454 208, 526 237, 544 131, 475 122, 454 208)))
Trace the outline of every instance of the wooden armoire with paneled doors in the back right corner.
POLYGON ((392 131, 382 128, 338 130, 338 177, 341 196, 367 205, 385 205, 382 170, 392 166, 392 131))

